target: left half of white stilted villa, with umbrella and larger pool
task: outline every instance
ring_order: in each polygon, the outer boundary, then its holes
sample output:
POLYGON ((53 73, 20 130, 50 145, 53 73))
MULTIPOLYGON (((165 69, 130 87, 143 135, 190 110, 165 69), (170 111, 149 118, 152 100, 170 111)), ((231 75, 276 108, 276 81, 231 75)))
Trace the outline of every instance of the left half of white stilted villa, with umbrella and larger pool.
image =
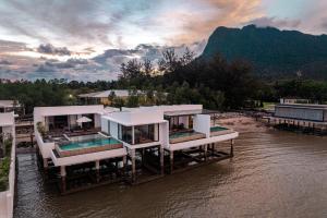
POLYGON ((110 110, 102 105, 34 109, 35 137, 43 167, 46 171, 60 168, 63 192, 66 190, 66 166, 94 162, 92 167, 99 178, 100 160, 125 158, 126 152, 120 142, 99 133, 100 117, 106 112, 110 110))

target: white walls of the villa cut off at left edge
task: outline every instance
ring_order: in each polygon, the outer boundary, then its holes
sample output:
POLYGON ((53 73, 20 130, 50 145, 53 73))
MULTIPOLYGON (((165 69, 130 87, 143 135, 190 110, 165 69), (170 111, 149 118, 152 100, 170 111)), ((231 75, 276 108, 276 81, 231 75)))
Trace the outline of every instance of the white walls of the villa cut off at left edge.
MULTIPOLYGON (((0 191, 0 217, 13 217, 13 202, 14 202, 14 185, 15 185, 15 122, 14 122, 14 113, 0 113, 0 147, 4 140, 9 136, 13 138, 13 146, 11 149, 11 164, 10 164, 10 172, 8 178, 8 190, 1 192, 0 191)), ((0 157, 1 159, 1 157, 0 157)), ((1 161, 1 160, 0 160, 1 161)))

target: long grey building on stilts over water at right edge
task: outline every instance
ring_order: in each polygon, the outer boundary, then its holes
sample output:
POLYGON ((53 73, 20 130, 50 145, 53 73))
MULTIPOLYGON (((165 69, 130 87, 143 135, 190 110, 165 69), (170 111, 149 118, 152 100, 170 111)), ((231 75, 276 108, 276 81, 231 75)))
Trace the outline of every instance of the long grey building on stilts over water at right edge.
POLYGON ((286 129, 327 134, 327 105, 279 104, 268 122, 286 129))

